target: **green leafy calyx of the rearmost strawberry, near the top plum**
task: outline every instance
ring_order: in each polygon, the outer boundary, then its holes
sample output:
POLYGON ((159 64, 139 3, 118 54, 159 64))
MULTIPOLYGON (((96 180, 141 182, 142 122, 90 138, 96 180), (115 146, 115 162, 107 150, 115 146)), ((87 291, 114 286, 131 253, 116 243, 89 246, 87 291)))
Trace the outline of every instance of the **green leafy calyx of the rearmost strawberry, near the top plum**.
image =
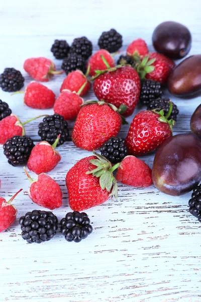
POLYGON ((155 69, 155 66, 152 65, 156 58, 149 60, 149 54, 145 56, 142 60, 137 53, 134 53, 133 59, 135 60, 135 69, 139 74, 140 79, 145 79, 147 73, 152 72, 155 69))

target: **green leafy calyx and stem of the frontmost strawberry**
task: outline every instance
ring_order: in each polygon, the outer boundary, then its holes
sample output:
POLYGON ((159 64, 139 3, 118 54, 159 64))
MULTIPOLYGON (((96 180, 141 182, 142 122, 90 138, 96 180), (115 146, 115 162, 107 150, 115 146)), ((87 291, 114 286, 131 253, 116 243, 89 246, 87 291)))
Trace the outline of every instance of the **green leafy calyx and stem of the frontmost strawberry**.
POLYGON ((115 177, 113 176, 113 171, 115 171, 120 163, 112 167, 112 164, 102 155, 93 151, 93 154, 97 159, 90 160, 90 163, 97 168, 87 171, 86 174, 92 174, 93 176, 99 178, 100 188, 106 189, 110 195, 118 198, 118 186, 115 177))

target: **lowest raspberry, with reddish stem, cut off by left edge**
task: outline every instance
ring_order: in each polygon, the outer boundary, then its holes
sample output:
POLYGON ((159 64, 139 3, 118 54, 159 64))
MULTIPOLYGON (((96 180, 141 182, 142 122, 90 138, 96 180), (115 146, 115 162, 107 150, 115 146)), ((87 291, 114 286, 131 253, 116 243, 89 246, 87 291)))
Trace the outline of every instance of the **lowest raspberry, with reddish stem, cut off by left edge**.
POLYGON ((8 229, 16 220, 17 209, 11 202, 23 189, 20 189, 9 201, 4 197, 0 197, 0 233, 8 229))

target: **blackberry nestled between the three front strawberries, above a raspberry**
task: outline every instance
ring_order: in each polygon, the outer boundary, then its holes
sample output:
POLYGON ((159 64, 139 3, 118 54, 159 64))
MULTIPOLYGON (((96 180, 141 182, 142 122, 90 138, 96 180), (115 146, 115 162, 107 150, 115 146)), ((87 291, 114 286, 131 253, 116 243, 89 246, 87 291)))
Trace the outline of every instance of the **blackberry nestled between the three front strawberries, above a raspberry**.
POLYGON ((120 163, 128 154, 122 137, 111 137, 100 147, 100 153, 112 164, 120 163))

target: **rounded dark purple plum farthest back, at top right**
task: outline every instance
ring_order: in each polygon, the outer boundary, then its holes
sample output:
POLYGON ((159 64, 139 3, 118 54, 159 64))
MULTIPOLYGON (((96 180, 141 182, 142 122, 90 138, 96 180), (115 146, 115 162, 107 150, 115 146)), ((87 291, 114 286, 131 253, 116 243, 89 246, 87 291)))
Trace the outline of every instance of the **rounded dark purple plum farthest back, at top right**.
POLYGON ((156 51, 171 59, 180 59, 190 50, 191 34, 184 25, 167 21, 155 28, 152 42, 156 51))

